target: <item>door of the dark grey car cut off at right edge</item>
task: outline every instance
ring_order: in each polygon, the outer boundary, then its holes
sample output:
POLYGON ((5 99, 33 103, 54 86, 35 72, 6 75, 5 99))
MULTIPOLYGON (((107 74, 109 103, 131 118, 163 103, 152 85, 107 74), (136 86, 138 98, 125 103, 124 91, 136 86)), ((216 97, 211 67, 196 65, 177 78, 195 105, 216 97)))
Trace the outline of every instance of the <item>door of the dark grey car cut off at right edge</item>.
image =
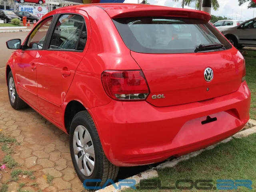
POLYGON ((256 19, 245 23, 238 30, 239 44, 256 45, 256 19))

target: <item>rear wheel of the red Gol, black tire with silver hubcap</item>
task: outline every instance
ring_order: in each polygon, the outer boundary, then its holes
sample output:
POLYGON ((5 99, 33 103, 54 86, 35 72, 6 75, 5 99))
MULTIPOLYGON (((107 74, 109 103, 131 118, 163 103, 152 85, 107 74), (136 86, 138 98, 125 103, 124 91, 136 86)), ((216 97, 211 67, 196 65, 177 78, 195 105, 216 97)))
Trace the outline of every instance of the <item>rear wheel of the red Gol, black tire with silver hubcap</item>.
POLYGON ((82 182, 86 179, 101 180, 86 182, 86 186, 102 186, 108 179, 116 179, 119 167, 106 158, 92 117, 87 111, 78 112, 72 120, 70 154, 82 182))

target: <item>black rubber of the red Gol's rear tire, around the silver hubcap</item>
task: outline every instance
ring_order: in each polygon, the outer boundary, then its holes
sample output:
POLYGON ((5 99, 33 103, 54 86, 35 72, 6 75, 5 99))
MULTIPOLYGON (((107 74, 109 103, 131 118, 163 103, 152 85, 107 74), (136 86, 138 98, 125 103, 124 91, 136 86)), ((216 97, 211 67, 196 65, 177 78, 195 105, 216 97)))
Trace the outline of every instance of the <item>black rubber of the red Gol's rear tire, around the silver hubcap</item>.
MULTIPOLYGON (((83 134, 84 137, 84 134, 83 134)), ((71 123, 70 126, 70 154, 72 158, 72 162, 74 168, 76 170, 76 174, 81 182, 84 182, 86 179, 100 179, 102 180, 99 183, 96 182, 87 182, 86 186, 102 186, 108 179, 115 180, 118 174, 119 167, 113 165, 109 160, 106 158, 104 154, 100 138, 98 136, 98 132, 92 120, 92 117, 87 111, 78 112, 71 123), (90 138, 92 139, 92 144, 94 146, 94 156, 95 156, 95 164, 94 170, 90 176, 85 176, 78 168, 78 164, 76 163, 76 158, 74 154, 73 148, 73 136, 74 131, 77 126, 82 125, 86 128, 88 133, 90 134, 90 138)))

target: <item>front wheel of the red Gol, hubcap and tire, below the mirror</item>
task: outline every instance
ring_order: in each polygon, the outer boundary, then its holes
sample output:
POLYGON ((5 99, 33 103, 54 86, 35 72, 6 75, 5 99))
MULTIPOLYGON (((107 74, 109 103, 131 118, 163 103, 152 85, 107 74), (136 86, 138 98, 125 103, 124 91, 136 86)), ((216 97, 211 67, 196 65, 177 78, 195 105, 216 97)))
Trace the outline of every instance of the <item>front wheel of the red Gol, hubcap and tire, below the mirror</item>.
POLYGON ((8 95, 9 95, 9 100, 12 108, 19 110, 23 109, 26 106, 28 106, 19 96, 16 91, 15 83, 14 83, 14 78, 12 76, 12 72, 9 72, 8 75, 8 95))

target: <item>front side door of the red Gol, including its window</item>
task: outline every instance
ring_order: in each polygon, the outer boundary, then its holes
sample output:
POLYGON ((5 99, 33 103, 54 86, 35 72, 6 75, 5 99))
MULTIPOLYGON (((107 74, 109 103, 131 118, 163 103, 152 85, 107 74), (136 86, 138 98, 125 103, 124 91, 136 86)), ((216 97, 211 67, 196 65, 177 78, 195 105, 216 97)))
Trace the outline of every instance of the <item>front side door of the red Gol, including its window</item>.
POLYGON ((44 19, 30 32, 23 44, 23 50, 19 52, 19 60, 15 66, 18 94, 34 108, 38 108, 36 80, 38 61, 52 19, 53 16, 44 19))

